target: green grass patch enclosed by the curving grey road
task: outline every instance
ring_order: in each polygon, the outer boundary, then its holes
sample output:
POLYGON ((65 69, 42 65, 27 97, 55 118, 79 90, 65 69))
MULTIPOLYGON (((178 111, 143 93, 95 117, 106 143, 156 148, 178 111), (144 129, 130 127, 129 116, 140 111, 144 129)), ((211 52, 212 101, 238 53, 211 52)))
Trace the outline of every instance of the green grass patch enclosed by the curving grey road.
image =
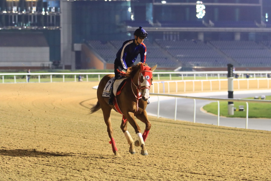
MULTIPOLYGON (((244 99, 254 99, 253 97, 248 97, 244 99)), ((266 96, 266 100, 271 100, 271 96, 266 96)), ((245 118, 247 113, 247 106, 245 102, 234 102, 234 115, 228 115, 228 102, 220 102, 220 116, 225 117, 241 117, 245 118), (244 106, 244 111, 238 111, 239 106, 244 106)), ((217 115, 217 102, 213 102, 203 106, 203 109, 208 113, 213 113, 217 115)), ((269 103, 248 103, 248 117, 249 118, 271 118, 271 104, 269 103)))

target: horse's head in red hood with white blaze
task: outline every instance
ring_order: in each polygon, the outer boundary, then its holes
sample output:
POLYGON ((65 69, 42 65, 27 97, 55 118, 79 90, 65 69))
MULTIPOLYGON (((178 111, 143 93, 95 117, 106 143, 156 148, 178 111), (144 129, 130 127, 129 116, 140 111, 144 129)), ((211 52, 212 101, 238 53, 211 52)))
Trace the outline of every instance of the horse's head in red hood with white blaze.
POLYGON ((147 101, 149 98, 149 90, 151 88, 151 83, 153 80, 152 72, 155 70, 156 66, 157 65, 150 68, 149 66, 144 66, 143 64, 141 64, 138 85, 141 89, 142 99, 145 101, 147 101))

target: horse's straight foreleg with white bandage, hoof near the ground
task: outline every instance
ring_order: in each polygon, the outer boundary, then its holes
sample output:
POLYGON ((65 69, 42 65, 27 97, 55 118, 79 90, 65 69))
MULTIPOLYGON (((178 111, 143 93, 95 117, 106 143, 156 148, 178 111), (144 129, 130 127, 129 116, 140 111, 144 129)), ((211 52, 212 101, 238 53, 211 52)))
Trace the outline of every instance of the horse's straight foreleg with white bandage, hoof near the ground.
POLYGON ((127 114, 127 119, 129 121, 129 123, 132 125, 132 127, 135 129, 136 134, 138 136, 138 141, 139 141, 139 146, 141 147, 141 154, 142 155, 148 155, 148 151, 145 148, 145 142, 143 140, 142 134, 141 134, 141 130, 139 125, 136 123, 135 117, 133 113, 128 113, 127 114))

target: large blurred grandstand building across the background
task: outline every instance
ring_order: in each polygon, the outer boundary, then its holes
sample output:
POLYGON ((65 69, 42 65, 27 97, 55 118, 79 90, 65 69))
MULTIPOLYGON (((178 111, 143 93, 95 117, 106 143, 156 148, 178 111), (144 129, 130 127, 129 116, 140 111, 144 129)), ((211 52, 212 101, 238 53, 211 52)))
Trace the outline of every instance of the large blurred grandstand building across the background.
MULTIPOLYGON (((48 68, 113 69, 122 43, 133 39, 134 30, 142 26, 148 32, 146 62, 157 64, 157 69, 226 70, 231 63, 236 70, 271 70, 268 1, 206 0, 203 4, 204 13, 196 16, 192 0, 167 0, 166 4, 158 0, 3 0, 0 35, 41 33, 36 41, 47 41, 49 60, 43 62, 51 64, 48 68)), ((18 37, 18 42, 26 41, 18 37)), ((2 44, 0 51, 5 48, 2 44)), ((25 51, 31 55, 29 49, 25 51)), ((20 59, 0 59, 0 65, 6 66, 1 69, 20 69, 12 62, 20 59)), ((44 68, 43 62, 36 61, 32 69, 44 68)))

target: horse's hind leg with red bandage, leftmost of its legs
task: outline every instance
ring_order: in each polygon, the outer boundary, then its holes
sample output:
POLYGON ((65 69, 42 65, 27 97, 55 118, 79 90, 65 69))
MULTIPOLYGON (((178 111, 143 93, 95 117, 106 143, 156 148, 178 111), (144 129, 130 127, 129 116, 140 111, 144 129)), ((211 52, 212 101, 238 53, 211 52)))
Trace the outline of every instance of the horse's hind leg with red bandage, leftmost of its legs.
POLYGON ((107 125, 107 133, 108 133, 109 138, 111 139, 111 141, 109 141, 109 143, 112 145, 113 153, 116 156, 118 156, 119 155, 118 149, 117 149, 115 140, 113 138, 113 128, 112 128, 111 120, 110 120, 110 112, 111 112, 111 110, 107 110, 107 111, 103 110, 104 122, 107 125))

